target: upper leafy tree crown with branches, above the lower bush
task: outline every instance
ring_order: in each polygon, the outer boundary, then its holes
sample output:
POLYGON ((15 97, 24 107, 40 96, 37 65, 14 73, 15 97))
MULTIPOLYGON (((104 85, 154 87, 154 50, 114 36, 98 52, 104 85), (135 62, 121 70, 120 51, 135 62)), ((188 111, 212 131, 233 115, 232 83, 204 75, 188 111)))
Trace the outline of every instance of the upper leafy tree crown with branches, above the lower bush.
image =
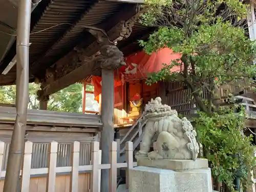
MULTIPOLYGON (((225 83, 248 86, 256 67, 255 45, 246 37, 247 6, 238 0, 229 1, 170 1, 148 0, 148 11, 142 15, 144 25, 160 26, 148 41, 140 41, 144 50, 151 54, 161 48, 180 53, 181 58, 164 63, 164 68, 153 73, 147 84, 159 80, 185 82, 193 92, 201 111, 210 113, 202 100, 202 88, 212 92, 225 83), (180 71, 170 73, 179 66, 180 71)), ((208 100, 209 100, 208 98, 208 100)))

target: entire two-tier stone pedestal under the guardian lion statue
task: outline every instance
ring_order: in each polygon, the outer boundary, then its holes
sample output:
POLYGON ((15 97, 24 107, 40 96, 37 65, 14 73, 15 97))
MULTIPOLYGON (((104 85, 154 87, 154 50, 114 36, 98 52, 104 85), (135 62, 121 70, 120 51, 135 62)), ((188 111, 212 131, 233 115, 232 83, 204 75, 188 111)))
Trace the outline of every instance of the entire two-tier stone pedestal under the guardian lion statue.
POLYGON ((207 159, 138 160, 129 170, 129 192, 151 191, 212 192, 207 159))

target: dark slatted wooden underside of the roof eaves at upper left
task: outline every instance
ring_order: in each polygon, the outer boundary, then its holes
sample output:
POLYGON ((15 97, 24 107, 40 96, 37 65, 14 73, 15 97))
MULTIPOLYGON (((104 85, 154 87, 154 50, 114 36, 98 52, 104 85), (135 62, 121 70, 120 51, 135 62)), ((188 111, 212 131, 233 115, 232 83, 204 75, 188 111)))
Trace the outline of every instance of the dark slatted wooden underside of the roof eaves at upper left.
MULTIPOLYGON (((42 0, 31 14, 30 82, 44 77, 47 68, 78 44, 88 47, 96 41, 86 27, 108 31, 121 20, 130 19, 137 8, 137 4, 110 1, 42 0)), ((139 50, 138 39, 147 38, 151 31, 136 23, 130 37, 119 42, 119 49, 124 55, 139 50)), ((0 86, 15 84, 16 66, 6 75, 2 74, 16 54, 15 45, 14 41, 0 61, 0 86)))

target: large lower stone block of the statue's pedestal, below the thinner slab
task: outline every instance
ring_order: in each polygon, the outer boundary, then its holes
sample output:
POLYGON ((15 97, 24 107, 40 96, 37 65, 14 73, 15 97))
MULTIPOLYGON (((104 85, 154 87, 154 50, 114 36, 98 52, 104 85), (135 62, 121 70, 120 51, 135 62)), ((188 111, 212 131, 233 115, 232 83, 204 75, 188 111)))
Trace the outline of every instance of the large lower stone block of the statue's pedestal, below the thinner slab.
POLYGON ((210 168, 174 170, 137 166, 129 170, 129 192, 212 192, 210 168))

